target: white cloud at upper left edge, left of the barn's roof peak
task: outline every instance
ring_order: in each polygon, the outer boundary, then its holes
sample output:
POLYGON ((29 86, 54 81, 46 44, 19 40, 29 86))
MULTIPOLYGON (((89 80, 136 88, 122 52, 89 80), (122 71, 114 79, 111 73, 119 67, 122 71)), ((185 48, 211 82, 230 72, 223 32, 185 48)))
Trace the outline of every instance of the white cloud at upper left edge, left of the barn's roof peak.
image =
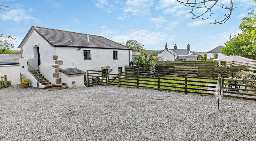
POLYGON ((20 22, 20 21, 28 22, 30 20, 37 21, 37 18, 32 17, 23 9, 10 10, 0 15, 0 18, 4 21, 11 20, 15 22, 20 22))

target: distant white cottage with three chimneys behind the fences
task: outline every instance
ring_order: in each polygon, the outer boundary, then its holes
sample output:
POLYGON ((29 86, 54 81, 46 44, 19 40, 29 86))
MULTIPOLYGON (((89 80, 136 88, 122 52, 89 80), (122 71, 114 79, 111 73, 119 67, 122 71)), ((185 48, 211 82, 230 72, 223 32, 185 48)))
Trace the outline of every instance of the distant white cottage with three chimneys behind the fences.
POLYGON ((189 44, 186 49, 178 49, 176 44, 173 49, 168 49, 166 43, 165 49, 157 54, 157 58, 160 58, 161 61, 173 61, 174 59, 197 60, 198 55, 192 55, 189 44))

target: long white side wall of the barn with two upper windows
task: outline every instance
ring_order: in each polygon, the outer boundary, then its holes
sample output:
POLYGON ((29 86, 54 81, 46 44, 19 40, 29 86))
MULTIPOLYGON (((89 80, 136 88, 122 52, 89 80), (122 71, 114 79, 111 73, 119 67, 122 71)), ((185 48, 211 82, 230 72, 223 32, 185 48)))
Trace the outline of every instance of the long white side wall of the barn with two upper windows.
POLYGON ((124 71, 125 65, 129 65, 129 58, 131 60, 131 52, 129 50, 102 48, 77 49, 78 48, 67 47, 56 48, 59 60, 63 60, 63 65, 61 68, 76 67, 86 72, 87 70, 101 70, 101 67, 109 66, 109 69, 113 69, 111 73, 117 74, 118 67, 122 67, 124 71), (91 59, 83 59, 83 50, 91 50, 91 59), (113 59, 114 50, 118 51, 118 59, 113 59))

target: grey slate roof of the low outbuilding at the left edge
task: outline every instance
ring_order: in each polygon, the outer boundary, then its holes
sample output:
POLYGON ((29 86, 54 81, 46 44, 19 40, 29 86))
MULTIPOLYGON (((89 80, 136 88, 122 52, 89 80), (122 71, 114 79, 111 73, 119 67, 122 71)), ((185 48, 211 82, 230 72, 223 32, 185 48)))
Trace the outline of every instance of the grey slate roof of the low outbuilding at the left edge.
POLYGON ((0 65, 14 65, 20 64, 20 54, 0 54, 0 65))

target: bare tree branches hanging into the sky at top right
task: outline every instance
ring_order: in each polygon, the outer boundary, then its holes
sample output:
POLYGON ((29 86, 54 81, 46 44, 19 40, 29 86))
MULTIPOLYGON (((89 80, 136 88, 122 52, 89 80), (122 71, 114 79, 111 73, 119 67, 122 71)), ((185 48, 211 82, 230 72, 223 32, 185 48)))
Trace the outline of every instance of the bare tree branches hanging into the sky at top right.
POLYGON ((191 19, 196 19, 198 17, 201 17, 203 20, 206 20, 208 18, 210 18, 213 14, 212 12, 212 8, 213 7, 220 7, 222 9, 228 10, 229 12, 227 14, 224 14, 224 19, 217 21, 216 18, 214 18, 214 23, 211 24, 224 24, 225 22, 227 22, 227 20, 231 17, 232 11, 234 10, 234 5, 232 0, 230 0, 230 5, 229 6, 225 6, 224 4, 218 5, 218 2, 220 0, 203 0, 202 2, 196 2, 196 0, 194 0, 193 2, 189 2, 189 0, 176 0, 177 4, 182 4, 184 6, 187 7, 192 7, 192 10, 189 13, 192 13, 192 15, 194 17, 192 17, 191 19), (201 14, 196 14, 193 10, 194 8, 198 8, 198 9, 204 9, 204 12, 201 14), (207 17, 203 17, 204 15, 209 14, 209 16, 207 17))

